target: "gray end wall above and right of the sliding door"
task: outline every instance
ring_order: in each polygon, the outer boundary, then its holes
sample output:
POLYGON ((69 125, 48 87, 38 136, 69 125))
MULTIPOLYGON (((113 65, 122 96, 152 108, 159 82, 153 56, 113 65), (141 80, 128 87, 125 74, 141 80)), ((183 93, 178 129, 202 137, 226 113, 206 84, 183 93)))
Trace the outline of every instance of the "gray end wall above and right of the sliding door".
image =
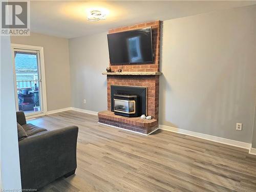
POLYGON ((12 36, 12 44, 44 47, 47 110, 71 106, 69 42, 66 38, 31 33, 12 36))

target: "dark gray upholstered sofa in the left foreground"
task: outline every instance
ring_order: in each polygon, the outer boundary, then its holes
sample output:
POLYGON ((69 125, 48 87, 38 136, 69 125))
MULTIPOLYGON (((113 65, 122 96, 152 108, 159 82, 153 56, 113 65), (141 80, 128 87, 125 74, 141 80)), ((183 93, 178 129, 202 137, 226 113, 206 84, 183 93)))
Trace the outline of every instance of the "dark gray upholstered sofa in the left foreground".
POLYGON ((16 116, 27 134, 18 142, 22 188, 40 189, 59 177, 73 175, 78 127, 48 131, 27 124, 24 112, 17 112, 16 116))

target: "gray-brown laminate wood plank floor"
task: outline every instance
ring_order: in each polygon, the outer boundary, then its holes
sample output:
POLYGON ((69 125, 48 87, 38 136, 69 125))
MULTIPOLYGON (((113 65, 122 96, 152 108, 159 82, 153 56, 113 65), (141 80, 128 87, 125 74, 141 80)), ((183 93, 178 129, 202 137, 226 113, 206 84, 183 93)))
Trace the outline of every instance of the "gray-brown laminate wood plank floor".
POLYGON ((248 150, 158 130, 143 136, 67 111, 30 123, 79 127, 77 169, 41 191, 256 191, 256 156, 248 150))

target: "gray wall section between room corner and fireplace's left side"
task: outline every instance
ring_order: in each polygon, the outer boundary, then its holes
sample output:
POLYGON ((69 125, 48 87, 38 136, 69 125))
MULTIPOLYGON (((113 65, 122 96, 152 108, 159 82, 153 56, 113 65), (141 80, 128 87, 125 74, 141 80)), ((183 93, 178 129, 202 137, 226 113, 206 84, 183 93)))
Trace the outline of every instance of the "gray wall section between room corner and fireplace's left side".
POLYGON ((69 40, 72 106, 75 108, 91 111, 108 108, 106 76, 101 74, 109 66, 106 34, 69 40))

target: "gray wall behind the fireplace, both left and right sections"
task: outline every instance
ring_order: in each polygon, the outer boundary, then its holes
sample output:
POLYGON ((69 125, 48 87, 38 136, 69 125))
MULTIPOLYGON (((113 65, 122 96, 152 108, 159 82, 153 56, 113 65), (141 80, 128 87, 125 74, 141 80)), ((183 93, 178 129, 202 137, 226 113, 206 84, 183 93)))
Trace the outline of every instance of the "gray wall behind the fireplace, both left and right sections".
MULTIPOLYGON (((163 22, 160 124, 251 142, 255 12, 250 6, 163 22)), ((106 33, 70 39, 69 45, 73 106, 106 110, 106 33)))

